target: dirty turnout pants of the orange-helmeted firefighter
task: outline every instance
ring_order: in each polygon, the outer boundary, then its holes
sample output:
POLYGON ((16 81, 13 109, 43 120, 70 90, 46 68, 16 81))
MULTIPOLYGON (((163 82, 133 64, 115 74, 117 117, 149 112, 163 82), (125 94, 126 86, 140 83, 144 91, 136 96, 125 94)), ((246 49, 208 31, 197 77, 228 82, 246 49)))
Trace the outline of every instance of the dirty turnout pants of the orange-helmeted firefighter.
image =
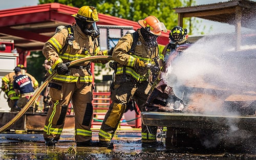
MULTIPOLYGON (((143 104, 147 100, 151 84, 147 81, 136 82, 133 78, 123 81, 122 76, 116 76, 111 94, 112 103, 99 131, 100 141, 111 141, 123 116, 127 103, 133 97, 140 111, 145 111, 143 104)), ((157 127, 142 124, 142 142, 156 141, 157 127), (148 128, 148 129, 147 129, 148 128), (148 131, 150 130, 150 132, 148 131)))

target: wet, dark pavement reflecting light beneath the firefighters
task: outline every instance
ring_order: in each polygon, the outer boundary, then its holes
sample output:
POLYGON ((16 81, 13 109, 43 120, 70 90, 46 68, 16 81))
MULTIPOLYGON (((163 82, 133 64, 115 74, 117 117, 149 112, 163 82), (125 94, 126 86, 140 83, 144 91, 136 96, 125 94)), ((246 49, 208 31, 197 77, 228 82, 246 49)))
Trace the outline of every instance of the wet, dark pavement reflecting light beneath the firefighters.
MULTIPOLYGON (((93 140, 98 141, 98 132, 93 140)), ((164 146, 142 147, 139 131, 118 131, 113 142, 114 149, 100 147, 76 147, 74 134, 63 133, 56 147, 46 147, 42 133, 0 134, 0 159, 256 159, 256 154, 195 151, 189 148, 170 149, 164 146)))

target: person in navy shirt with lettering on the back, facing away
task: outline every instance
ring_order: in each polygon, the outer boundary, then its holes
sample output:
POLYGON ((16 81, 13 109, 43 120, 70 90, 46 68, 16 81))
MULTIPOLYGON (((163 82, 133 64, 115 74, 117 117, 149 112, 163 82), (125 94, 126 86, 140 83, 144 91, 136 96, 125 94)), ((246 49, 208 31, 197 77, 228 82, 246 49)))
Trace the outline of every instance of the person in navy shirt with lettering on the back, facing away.
MULTIPOLYGON (((34 95, 34 84, 28 75, 22 74, 20 67, 16 66, 14 68, 14 72, 16 77, 13 81, 13 88, 16 95, 19 95, 19 99, 16 101, 15 107, 18 110, 21 110, 34 95)), ((29 111, 33 111, 32 109, 29 111)), ((34 109, 36 110, 36 108, 34 109)))

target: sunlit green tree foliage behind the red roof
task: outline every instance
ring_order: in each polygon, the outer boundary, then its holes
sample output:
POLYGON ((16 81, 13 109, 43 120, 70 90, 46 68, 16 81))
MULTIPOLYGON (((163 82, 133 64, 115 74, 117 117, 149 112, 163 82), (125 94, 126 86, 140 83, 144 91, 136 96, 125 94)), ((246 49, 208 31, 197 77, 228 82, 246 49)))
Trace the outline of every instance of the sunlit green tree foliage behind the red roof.
MULTIPOLYGON (((40 4, 60 3, 80 8, 84 5, 95 6, 99 13, 108 14, 124 19, 138 21, 148 15, 156 16, 164 22, 167 29, 172 29, 178 24, 178 15, 173 8, 193 4, 194 0, 89 0, 89 1, 68 1, 68 0, 39 0, 40 4)), ((184 27, 187 26, 186 22, 184 27)), ((190 29, 192 30, 192 28, 190 29)))

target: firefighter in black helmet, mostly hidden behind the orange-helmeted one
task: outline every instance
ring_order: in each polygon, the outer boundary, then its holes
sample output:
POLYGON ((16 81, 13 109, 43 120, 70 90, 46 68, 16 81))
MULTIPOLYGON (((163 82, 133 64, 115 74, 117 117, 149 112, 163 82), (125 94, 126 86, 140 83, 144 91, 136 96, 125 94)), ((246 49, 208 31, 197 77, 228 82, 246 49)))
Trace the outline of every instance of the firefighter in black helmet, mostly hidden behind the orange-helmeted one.
POLYGON ((160 66, 163 66, 164 62, 168 59, 170 53, 175 51, 178 45, 190 43, 187 41, 187 29, 183 29, 180 26, 174 27, 169 33, 169 43, 165 45, 163 52, 160 54, 160 66))

